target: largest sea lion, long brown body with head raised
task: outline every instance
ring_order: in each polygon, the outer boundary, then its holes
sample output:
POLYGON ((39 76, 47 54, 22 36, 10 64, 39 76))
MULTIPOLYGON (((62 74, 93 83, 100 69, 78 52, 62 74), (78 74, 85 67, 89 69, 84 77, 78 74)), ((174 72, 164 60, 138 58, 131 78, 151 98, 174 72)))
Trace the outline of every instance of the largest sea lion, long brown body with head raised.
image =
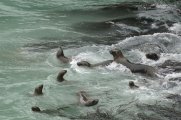
POLYGON ((151 77, 156 76, 155 69, 153 67, 143 64, 131 63, 128 59, 126 59, 126 57, 124 57, 121 50, 119 49, 110 50, 110 54, 113 55, 114 61, 116 63, 126 66, 131 70, 132 73, 142 73, 151 77))

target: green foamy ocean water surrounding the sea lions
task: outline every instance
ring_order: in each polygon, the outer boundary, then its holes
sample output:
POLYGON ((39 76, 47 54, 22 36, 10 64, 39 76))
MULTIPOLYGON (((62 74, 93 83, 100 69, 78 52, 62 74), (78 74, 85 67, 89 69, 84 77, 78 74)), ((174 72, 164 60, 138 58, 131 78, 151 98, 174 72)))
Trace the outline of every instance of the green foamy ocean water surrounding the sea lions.
POLYGON ((76 65, 112 59, 113 48, 154 67, 168 59, 181 62, 179 0, 1 0, 0 28, 0 120, 181 119, 181 98, 166 97, 180 95, 181 83, 169 82, 181 77, 179 72, 152 79, 114 62, 91 69, 76 65), (57 60, 59 46, 72 58, 70 64, 57 60), (160 54, 160 60, 146 59, 149 52, 160 54), (58 83, 64 69, 67 81, 58 83), (131 90, 131 80, 140 88, 131 90), (32 96, 40 84, 44 95, 32 96), (81 90, 99 99, 98 105, 81 106, 81 90), (32 106, 55 114, 32 112, 32 106))

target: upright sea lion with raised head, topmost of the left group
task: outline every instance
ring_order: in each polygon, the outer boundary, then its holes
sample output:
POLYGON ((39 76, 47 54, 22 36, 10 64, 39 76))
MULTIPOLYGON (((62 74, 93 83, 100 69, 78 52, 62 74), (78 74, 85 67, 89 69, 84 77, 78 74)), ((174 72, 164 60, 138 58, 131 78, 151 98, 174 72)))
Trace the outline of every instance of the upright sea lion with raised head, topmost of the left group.
POLYGON ((57 51, 56 57, 57 57, 57 59, 59 59, 63 63, 69 63, 71 61, 70 58, 68 58, 64 55, 63 49, 61 47, 59 47, 59 50, 57 51))

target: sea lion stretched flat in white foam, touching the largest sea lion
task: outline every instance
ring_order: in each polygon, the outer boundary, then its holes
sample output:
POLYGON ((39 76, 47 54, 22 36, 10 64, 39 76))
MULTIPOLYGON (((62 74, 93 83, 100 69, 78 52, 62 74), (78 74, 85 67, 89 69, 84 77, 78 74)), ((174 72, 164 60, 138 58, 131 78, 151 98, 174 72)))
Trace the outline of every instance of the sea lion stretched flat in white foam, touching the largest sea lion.
POLYGON ((90 64, 87 61, 81 61, 81 62, 78 62, 77 65, 78 66, 86 66, 86 67, 97 67, 97 66, 106 66, 106 65, 109 65, 112 62, 113 62, 113 60, 106 60, 106 61, 103 61, 103 62, 100 62, 100 63, 90 64))

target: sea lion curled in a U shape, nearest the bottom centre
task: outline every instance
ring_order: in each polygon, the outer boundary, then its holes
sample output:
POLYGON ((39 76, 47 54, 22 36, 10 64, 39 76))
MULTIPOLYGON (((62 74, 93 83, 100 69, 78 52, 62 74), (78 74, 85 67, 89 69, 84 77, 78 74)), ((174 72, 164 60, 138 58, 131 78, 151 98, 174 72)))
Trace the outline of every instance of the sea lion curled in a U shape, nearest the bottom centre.
POLYGON ((87 96, 85 95, 85 92, 83 92, 83 91, 79 92, 79 97, 80 97, 80 100, 79 100, 80 104, 82 104, 84 106, 87 106, 87 107, 94 106, 99 102, 98 99, 89 99, 89 98, 87 98, 87 96))

